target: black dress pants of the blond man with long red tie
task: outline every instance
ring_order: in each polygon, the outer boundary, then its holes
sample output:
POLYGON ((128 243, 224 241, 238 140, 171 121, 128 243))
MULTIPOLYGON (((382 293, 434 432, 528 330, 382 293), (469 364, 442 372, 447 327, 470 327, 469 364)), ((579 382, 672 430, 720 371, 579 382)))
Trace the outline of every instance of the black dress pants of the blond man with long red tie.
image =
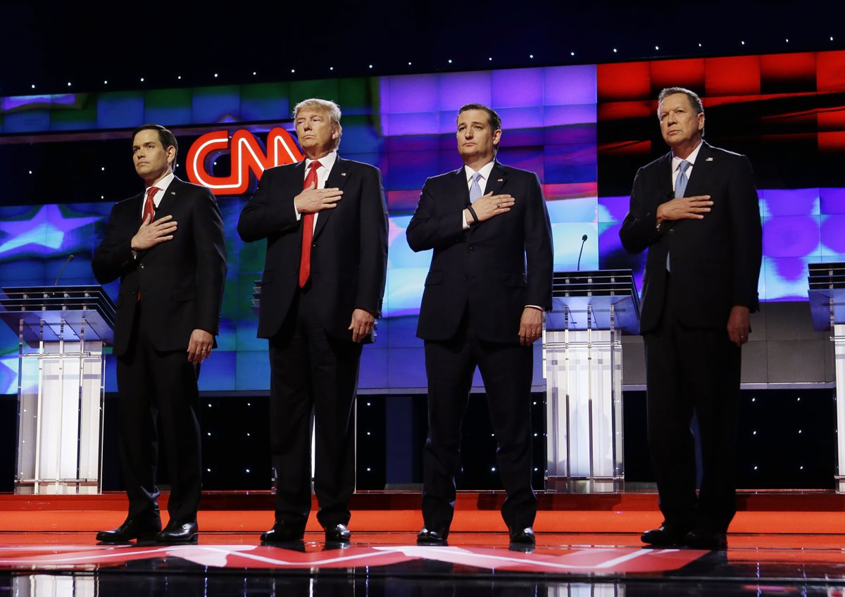
POLYGON ((352 405, 363 348, 351 339, 330 337, 309 292, 308 285, 297 291, 285 323, 270 339, 275 520, 303 529, 311 510, 312 428, 317 519, 324 527, 349 523, 355 490, 352 405))

